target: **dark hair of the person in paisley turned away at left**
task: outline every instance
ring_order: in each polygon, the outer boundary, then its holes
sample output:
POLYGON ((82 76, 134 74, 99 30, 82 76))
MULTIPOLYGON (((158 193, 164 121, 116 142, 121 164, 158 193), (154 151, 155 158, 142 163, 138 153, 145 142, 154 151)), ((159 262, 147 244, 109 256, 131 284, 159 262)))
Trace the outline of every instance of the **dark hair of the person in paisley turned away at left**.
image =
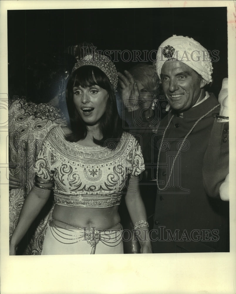
POLYGON ((34 103, 48 103, 62 89, 63 80, 71 72, 76 60, 69 54, 41 53, 28 60, 26 69, 26 99, 34 103))

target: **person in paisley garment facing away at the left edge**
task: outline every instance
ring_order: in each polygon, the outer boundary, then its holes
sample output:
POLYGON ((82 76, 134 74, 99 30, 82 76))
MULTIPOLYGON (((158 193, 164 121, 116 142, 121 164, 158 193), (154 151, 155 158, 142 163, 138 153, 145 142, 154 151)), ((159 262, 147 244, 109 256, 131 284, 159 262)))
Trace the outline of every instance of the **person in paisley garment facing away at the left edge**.
MULTIPOLYGON (((45 136, 53 127, 67 124, 65 83, 76 60, 44 52, 28 62, 26 97, 9 100, 9 238, 34 186, 33 166, 45 136)), ((18 244, 17 255, 41 254, 51 198, 18 244)))

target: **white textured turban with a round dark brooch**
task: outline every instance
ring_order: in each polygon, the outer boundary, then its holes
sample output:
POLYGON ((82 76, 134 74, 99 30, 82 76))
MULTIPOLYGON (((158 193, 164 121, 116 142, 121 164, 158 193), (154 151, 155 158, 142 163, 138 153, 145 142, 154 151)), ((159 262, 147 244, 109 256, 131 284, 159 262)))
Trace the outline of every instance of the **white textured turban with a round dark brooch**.
POLYGON ((160 45, 156 57, 156 72, 159 78, 165 61, 174 58, 194 69, 207 83, 212 82, 213 67, 210 55, 192 38, 173 35, 160 45))

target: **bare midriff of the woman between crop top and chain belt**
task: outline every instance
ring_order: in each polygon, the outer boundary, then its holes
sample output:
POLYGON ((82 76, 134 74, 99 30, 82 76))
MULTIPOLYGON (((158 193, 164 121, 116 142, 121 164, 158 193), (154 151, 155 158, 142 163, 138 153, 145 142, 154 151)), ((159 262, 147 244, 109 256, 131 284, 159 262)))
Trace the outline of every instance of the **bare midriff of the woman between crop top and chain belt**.
POLYGON ((95 227, 97 230, 109 228, 117 230, 121 228, 121 225, 118 224, 120 222, 118 206, 108 208, 76 208, 55 205, 52 217, 55 225, 65 229, 86 227, 86 230, 89 230, 91 227, 95 227))

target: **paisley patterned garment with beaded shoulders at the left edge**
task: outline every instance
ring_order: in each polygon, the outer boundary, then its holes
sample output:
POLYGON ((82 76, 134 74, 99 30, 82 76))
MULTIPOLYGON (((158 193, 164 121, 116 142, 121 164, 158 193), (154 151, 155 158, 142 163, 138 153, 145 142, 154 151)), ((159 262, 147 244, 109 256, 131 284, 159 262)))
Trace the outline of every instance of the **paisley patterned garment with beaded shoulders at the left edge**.
MULTIPOLYGON (((42 149, 45 136, 51 128, 58 124, 65 125, 65 119, 62 118, 62 113, 59 109, 50 103, 35 104, 26 102, 24 99, 18 99, 9 106, 8 121, 9 171, 21 181, 21 188, 9 191, 9 233, 11 238, 17 225, 24 199, 33 186, 33 165, 39 151, 42 149)), ((19 254, 41 254, 51 207, 52 203, 48 203, 48 206, 39 215, 28 232, 28 236, 18 246, 20 247, 19 254), (30 241, 28 238, 30 238, 30 241)))

